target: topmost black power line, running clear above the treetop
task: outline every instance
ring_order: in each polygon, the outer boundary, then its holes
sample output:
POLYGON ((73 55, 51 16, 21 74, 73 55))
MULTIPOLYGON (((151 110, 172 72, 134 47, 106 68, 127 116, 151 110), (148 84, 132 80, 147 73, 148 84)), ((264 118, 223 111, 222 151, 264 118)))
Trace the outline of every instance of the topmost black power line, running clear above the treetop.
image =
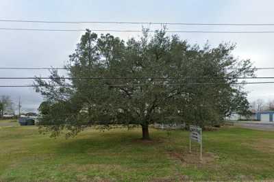
POLYGON ((0 22, 14 23, 64 23, 64 24, 137 24, 137 25, 218 25, 218 26, 273 26, 274 23, 171 23, 171 22, 121 22, 121 21, 32 21, 0 19, 0 22))

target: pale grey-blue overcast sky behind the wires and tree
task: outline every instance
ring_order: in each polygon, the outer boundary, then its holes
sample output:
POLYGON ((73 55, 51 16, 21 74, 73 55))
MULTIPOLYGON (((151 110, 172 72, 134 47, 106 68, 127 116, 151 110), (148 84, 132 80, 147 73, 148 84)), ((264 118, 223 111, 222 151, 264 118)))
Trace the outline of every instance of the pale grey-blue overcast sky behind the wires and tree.
MULTIPOLYGON (((20 1, 1 0, 0 19, 43 21, 142 21, 173 23, 274 23, 274 1, 266 0, 170 0, 170 1, 20 1)), ((157 25, 144 25, 159 29, 157 25)), ((36 29, 141 29, 142 25, 64 25, 37 23, 0 23, 0 27, 36 29)), ((169 30, 274 31, 273 27, 168 26, 169 30)), ((123 39, 136 33, 112 33, 123 39)), ((82 32, 0 30, 0 67, 62 67, 75 50, 82 32)), ((179 34, 190 43, 216 46, 220 42, 237 44, 234 55, 250 59, 256 67, 274 67, 274 34, 179 34)), ((274 70, 260 70, 258 77, 272 76, 274 70)), ((47 76, 47 70, 0 70, 0 77, 47 76)), ((256 81, 256 80, 253 80, 256 81)), ((264 81, 264 80, 260 80, 264 81)), ((269 80, 265 80, 269 81, 269 80)), ((27 84, 29 81, 0 80, 0 85, 27 84)), ((249 101, 274 99, 274 84, 249 85, 249 101)), ((42 98, 33 88, 0 88, 23 109, 36 109, 42 98)))

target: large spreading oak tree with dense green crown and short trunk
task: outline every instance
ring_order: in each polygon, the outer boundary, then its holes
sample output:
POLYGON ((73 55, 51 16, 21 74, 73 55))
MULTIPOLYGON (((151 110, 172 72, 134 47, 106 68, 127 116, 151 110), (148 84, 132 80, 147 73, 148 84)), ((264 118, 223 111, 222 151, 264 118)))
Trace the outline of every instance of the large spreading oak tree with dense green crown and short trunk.
POLYGON ((237 83, 253 69, 233 49, 190 45, 164 30, 127 42, 87 30, 66 65, 72 79, 53 69, 50 81, 35 81, 45 97, 40 129, 69 136, 86 127, 140 125, 149 139, 153 122, 214 125, 247 103, 237 83))

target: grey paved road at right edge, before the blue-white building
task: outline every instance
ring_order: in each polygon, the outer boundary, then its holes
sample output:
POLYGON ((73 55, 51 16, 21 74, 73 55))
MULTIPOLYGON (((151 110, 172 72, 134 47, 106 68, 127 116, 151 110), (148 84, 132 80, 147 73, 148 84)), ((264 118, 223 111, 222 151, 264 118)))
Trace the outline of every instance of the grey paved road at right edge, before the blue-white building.
POLYGON ((264 131, 274 131, 274 122, 234 122, 234 126, 264 131))

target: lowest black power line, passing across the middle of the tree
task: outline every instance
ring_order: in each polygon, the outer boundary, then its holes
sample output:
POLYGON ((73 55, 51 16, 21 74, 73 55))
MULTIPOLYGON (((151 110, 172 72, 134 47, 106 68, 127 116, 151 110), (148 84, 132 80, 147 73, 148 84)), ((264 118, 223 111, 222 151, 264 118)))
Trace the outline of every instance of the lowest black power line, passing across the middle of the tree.
MULTIPOLYGON (((274 81, 262 81, 262 82, 243 82, 243 83, 171 83, 171 84, 152 84, 153 86, 214 86, 214 85, 245 85, 245 84, 266 84, 274 83, 274 81)), ((92 84, 90 86, 147 86, 147 84, 92 84)), ((73 87, 73 85, 14 85, 14 86, 0 86, 0 88, 28 88, 28 87, 73 87)))

